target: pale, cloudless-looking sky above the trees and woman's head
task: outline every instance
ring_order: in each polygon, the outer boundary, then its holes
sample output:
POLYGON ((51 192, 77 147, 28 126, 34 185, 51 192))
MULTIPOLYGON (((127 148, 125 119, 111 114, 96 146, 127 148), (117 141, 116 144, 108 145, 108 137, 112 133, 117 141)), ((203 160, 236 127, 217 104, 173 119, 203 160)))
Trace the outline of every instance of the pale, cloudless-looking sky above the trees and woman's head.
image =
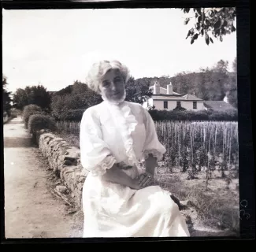
MULTIPOLYGON (((191 13, 187 14, 191 16, 191 13)), ((236 57, 236 32, 206 45, 185 39, 192 20, 180 9, 2 10, 2 68, 8 90, 59 91, 85 81, 98 60, 117 59, 132 76, 174 76, 236 57)), ((236 24, 234 24, 236 27, 236 24)))

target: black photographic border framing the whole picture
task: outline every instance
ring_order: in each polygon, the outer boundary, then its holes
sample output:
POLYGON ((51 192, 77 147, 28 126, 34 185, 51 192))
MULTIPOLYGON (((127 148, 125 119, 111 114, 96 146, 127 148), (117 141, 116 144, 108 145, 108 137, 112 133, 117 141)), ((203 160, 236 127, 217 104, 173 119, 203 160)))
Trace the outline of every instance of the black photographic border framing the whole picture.
MULTIPOLYGON (((252 91, 250 85, 250 1, 1 1, 2 9, 98 9, 98 8, 182 8, 182 7, 222 7, 236 6, 237 21, 237 85, 238 85, 238 127, 239 127, 239 237, 189 237, 189 238, 114 238, 114 239, 6 239, 4 215, 4 171, 2 178, 2 243, 102 243, 124 241, 173 241, 173 240, 251 240, 255 238, 255 210, 254 210, 254 152, 252 135, 252 91), (249 214, 249 215, 248 215, 249 214)), ((132 18, 132 17, 131 17, 132 18)), ((2 120, 2 117, 1 117, 2 120)), ((2 134, 3 135, 3 134, 2 134)), ((3 154, 3 139, 2 139, 3 154)), ((1 158, 2 167, 4 166, 1 158)))

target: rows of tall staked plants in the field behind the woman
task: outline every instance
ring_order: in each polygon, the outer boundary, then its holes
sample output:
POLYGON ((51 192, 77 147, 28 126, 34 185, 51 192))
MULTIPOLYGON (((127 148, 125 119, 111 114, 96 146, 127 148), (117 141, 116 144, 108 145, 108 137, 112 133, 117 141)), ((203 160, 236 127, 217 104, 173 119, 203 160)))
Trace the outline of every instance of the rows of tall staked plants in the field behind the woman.
MULTIPOLYGON (((73 135, 79 142, 80 122, 59 121, 58 132, 73 135)), ((233 171, 238 175, 238 124, 231 121, 156 121, 159 141, 166 152, 162 161, 172 172, 173 167, 187 172, 189 179, 195 179, 202 169, 210 172, 233 171)))

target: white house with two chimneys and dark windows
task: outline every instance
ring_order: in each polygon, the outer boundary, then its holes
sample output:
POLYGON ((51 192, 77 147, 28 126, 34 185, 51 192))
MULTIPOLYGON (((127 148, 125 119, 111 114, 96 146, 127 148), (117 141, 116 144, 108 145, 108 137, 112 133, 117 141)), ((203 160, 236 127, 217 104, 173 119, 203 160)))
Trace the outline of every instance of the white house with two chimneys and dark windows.
POLYGON ((150 87, 153 90, 153 95, 143 103, 143 107, 149 109, 155 106, 158 110, 173 110, 176 107, 183 107, 187 110, 202 110, 204 109, 203 100, 195 95, 180 95, 173 92, 173 85, 170 83, 167 88, 160 87, 158 81, 154 82, 154 85, 150 87))

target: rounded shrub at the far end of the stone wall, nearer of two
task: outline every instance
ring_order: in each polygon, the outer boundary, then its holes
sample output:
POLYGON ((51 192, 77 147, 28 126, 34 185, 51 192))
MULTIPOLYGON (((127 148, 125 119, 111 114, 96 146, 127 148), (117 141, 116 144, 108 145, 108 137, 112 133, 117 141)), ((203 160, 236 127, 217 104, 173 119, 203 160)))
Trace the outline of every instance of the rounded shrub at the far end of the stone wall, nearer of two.
POLYGON ((49 129, 50 131, 55 131, 57 128, 54 118, 43 115, 43 114, 33 114, 28 120, 28 132, 32 135, 41 129, 49 129))

